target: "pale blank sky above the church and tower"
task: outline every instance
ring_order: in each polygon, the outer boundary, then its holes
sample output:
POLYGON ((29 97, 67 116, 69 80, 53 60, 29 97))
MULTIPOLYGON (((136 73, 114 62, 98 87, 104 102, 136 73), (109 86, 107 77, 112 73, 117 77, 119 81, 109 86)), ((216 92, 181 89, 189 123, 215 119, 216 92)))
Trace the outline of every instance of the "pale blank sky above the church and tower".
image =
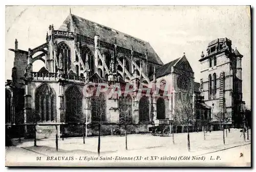
MULTIPOLYGON (((11 79, 15 38, 18 49, 46 42, 49 25, 58 29, 71 13, 150 42, 163 63, 185 55, 200 82, 201 52, 217 38, 232 40, 242 58, 243 100, 251 105, 251 28, 245 6, 7 6, 6 79, 11 79)), ((37 60, 33 70, 44 64, 37 60), (38 62, 37 62, 38 61, 38 62)))

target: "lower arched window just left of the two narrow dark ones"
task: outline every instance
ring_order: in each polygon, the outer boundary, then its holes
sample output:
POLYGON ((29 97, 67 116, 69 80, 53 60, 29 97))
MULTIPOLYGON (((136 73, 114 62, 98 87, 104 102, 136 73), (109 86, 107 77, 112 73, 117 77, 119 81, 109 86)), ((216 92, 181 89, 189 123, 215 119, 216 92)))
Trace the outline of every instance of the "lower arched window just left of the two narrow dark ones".
POLYGON ((132 123, 132 97, 130 95, 119 97, 119 108, 119 121, 132 123))

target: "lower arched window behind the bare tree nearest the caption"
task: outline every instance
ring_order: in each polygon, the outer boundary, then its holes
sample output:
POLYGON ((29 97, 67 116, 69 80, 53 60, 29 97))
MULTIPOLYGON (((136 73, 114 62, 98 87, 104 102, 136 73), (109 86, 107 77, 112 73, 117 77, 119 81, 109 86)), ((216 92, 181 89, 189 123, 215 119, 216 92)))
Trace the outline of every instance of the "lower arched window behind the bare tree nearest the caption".
POLYGON ((92 96, 91 99, 92 121, 105 121, 106 98, 104 93, 92 96))

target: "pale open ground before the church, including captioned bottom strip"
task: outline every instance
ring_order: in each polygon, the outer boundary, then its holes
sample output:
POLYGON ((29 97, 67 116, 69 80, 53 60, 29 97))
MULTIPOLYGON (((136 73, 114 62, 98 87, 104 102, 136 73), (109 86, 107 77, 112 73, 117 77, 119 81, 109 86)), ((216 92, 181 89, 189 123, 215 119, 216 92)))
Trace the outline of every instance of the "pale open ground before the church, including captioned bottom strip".
POLYGON ((6 162, 10 164, 16 162, 44 164, 46 162, 52 165, 86 166, 96 164, 100 166, 104 166, 104 164, 108 166, 132 165, 134 161, 126 161, 125 158, 138 156, 140 159, 136 161, 137 165, 149 163, 152 166, 248 166, 250 165, 250 140, 244 142, 240 135, 239 129, 231 129, 230 133, 227 133, 227 137, 225 133, 226 144, 224 145, 222 131, 206 133, 206 140, 204 140, 203 132, 190 133, 190 152, 187 150, 187 133, 174 134, 175 144, 173 144, 172 137, 159 137, 151 134, 127 135, 128 150, 125 150, 124 136, 105 136, 101 137, 100 145, 102 161, 84 160, 84 157, 98 157, 97 137, 86 138, 85 144, 83 144, 82 138, 68 138, 63 141, 58 139, 58 152, 56 152, 55 139, 38 140, 36 147, 33 146, 34 142, 31 140, 22 143, 16 142, 17 146, 6 147, 6 162), (51 156, 73 157, 74 160, 69 163, 64 161, 56 163, 56 161, 47 160, 47 157, 51 156), (38 161, 36 157, 41 157, 41 159, 38 161), (107 163, 110 157, 113 158, 112 164, 107 163), (116 157, 121 157, 121 160, 115 160, 116 157), (153 160, 151 157, 155 157, 155 159, 153 160), (181 158, 179 159, 179 157, 181 158), (219 158, 217 159, 217 157, 219 158), (189 164, 183 162, 189 162, 189 164))

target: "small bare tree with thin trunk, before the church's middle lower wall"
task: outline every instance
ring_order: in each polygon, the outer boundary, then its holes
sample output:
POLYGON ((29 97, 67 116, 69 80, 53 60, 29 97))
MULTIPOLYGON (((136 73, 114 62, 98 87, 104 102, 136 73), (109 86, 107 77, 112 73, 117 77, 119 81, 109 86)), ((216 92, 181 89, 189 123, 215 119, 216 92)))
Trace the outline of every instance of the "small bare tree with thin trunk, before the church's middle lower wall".
POLYGON ((125 131, 125 149, 127 150, 127 124, 132 123, 131 108, 119 107, 119 123, 124 125, 125 131))

